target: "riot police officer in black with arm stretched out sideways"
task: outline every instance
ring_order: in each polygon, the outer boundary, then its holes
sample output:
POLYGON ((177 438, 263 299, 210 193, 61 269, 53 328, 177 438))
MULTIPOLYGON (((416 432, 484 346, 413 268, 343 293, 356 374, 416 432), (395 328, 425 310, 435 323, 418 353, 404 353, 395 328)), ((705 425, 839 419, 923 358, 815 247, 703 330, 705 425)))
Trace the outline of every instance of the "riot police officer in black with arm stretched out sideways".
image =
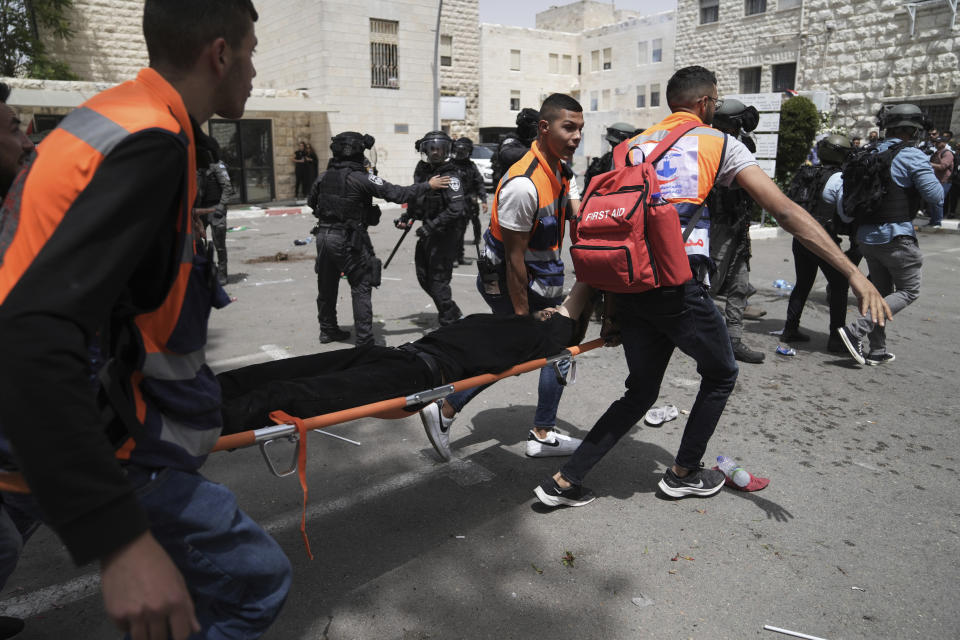
POLYGON ((333 158, 321 173, 307 204, 318 223, 317 236, 317 317, 320 342, 340 342, 349 331, 337 325, 337 289, 340 274, 347 276, 353 299, 353 322, 358 347, 374 344, 372 287, 380 286, 380 260, 374 255, 367 227, 380 222, 380 208, 373 198, 403 204, 433 189, 444 189, 449 179, 399 187, 367 172, 364 149, 373 147, 373 136, 344 131, 333 137, 333 158))

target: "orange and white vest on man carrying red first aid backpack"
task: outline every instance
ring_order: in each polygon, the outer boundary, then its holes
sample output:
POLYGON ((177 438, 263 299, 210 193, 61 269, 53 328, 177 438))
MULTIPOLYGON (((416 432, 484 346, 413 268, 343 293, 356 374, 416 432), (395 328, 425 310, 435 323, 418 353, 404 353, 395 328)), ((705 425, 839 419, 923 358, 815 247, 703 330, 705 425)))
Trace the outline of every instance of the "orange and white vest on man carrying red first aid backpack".
MULTIPOLYGON (((692 113, 678 111, 625 143, 630 163, 639 164, 674 127, 701 122, 692 113)), ((726 134, 706 125, 684 134, 656 163, 660 196, 674 204, 680 223, 686 226, 717 181, 726 149, 726 134)), ((710 212, 704 207, 700 220, 687 238, 688 256, 710 258, 710 212)))

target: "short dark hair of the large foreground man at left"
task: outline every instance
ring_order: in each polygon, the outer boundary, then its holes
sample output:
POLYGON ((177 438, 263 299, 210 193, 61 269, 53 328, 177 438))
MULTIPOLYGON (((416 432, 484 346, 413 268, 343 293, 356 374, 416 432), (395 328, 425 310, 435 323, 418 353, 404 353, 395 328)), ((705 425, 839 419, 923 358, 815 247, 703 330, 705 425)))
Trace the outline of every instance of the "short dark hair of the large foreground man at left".
POLYGON ((253 0, 146 0, 143 37, 150 64, 187 70, 208 43, 237 47, 256 22, 253 0))

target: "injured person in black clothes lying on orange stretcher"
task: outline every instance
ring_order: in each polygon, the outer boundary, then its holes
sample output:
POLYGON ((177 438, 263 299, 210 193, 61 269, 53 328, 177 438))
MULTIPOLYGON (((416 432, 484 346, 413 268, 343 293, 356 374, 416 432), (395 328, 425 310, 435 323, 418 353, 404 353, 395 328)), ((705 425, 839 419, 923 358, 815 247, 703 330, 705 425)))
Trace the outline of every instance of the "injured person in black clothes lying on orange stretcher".
POLYGON ((577 283, 535 316, 475 314, 397 348, 339 349, 225 371, 223 434, 271 424, 271 411, 309 418, 500 373, 553 356, 586 332, 593 290, 577 283))

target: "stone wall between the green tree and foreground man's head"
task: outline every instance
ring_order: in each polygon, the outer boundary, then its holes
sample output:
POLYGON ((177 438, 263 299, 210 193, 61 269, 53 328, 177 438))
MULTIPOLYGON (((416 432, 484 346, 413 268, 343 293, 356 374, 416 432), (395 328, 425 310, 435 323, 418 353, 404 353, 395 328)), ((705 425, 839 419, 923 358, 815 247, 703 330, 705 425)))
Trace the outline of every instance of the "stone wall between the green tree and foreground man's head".
POLYGON ((142 0, 74 0, 68 15, 74 36, 47 42, 81 80, 123 82, 147 65, 142 0))

